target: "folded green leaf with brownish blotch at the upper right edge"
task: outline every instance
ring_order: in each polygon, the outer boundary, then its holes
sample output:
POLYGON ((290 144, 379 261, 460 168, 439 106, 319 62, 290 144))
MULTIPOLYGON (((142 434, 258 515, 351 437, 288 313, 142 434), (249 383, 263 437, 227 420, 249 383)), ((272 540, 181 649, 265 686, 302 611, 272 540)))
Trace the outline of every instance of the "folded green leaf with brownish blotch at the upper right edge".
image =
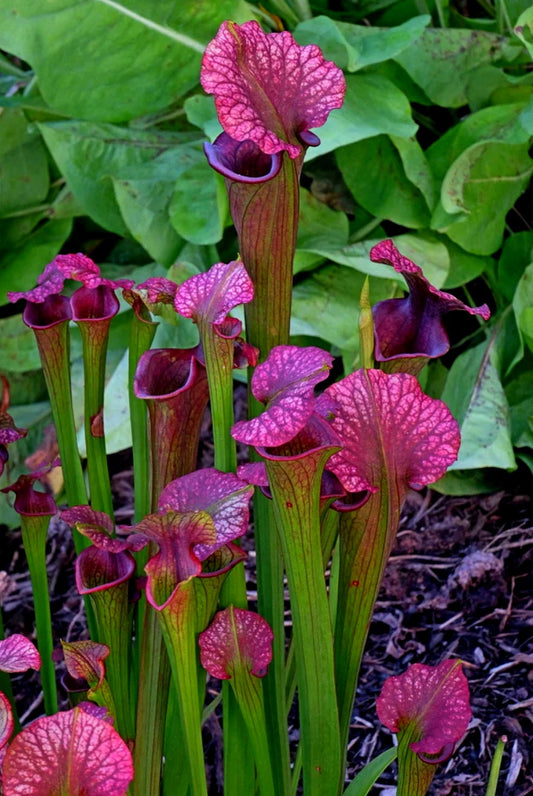
POLYGON ((528 144, 480 142, 448 169, 431 227, 473 254, 492 254, 503 241, 505 216, 533 174, 528 144))

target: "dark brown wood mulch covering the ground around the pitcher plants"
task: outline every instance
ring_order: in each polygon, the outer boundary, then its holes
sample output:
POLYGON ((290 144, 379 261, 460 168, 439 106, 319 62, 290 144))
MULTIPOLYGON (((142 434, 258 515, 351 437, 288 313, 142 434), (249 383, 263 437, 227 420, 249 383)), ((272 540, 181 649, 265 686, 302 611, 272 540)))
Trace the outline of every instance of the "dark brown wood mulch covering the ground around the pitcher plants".
MULTIPOLYGON (((209 446, 202 459, 209 463, 209 446)), ((112 459, 117 521, 129 522, 133 500, 128 459, 112 459), (124 469, 125 468, 125 469, 124 469)), ((73 576, 70 530, 54 521, 48 548, 54 631, 76 640, 85 633, 73 576)), ((454 656, 466 664, 474 718, 455 755, 437 769, 432 796, 483 796, 497 739, 506 735, 498 793, 533 794, 533 505, 531 483, 475 497, 410 494, 371 626, 348 752, 348 779, 391 745, 375 700, 383 681, 413 662, 454 656)), ((252 574, 253 578, 253 574, 252 574)), ((4 531, 0 594, 10 632, 33 633, 32 594, 20 532, 4 531)), ((59 662, 58 667, 61 669, 59 662)), ((22 720, 42 712, 38 679, 15 675, 22 720)), ((212 792, 221 793, 219 725, 213 736, 212 792)), ((292 728, 297 737, 297 730, 292 728)), ((374 794, 393 796, 394 771, 374 794)))

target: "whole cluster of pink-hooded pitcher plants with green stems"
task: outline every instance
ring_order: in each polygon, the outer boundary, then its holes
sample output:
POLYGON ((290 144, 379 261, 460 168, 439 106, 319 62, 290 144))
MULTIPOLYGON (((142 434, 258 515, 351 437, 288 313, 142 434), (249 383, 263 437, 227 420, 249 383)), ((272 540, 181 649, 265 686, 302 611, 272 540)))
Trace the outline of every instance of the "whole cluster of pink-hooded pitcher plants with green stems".
MULTIPOLYGON (((456 421, 417 375, 449 349, 444 315, 486 319, 489 310, 434 288, 391 241, 370 256, 403 275, 408 292, 371 308, 363 291, 354 372, 335 381, 328 351, 289 341, 300 170, 319 143, 311 129, 343 102, 341 70, 288 32, 226 22, 207 47, 201 80, 224 129, 205 151, 225 180, 236 259, 178 286, 105 279, 87 256, 62 254, 34 289, 10 296, 26 300, 24 322, 42 359, 69 506, 61 519, 73 530, 90 640, 62 645, 75 706, 58 712, 45 566, 58 509, 39 486, 44 471, 21 476, 9 489, 21 515, 38 651, 8 636, 0 668, 40 668, 46 715, 21 730, 3 675, 5 796, 206 794, 202 725, 214 710, 228 796, 343 792, 358 673, 402 504, 458 454, 456 421), (74 291, 72 280, 81 283, 74 291), (133 308, 131 526, 114 522, 103 424, 107 336, 120 292, 133 308), (151 348, 162 303, 195 321, 197 347, 151 348), (245 339, 230 314, 239 305, 245 339), (71 399, 73 322, 83 342, 86 471, 71 399), (238 422, 235 368, 249 376, 248 419, 238 422), (214 467, 198 470, 208 404, 214 467), (240 466, 237 443, 249 450, 240 466), (241 545, 252 501, 254 610, 241 545), (211 701, 208 677, 221 681, 211 701), (295 750, 288 716, 296 704, 295 750)), ((4 387, 2 467, 7 445, 24 434, 4 387)), ((368 793, 396 758, 398 796, 422 796, 453 753, 471 717, 468 685, 461 661, 434 663, 386 680, 377 712, 397 740, 347 785, 350 796, 368 793)))

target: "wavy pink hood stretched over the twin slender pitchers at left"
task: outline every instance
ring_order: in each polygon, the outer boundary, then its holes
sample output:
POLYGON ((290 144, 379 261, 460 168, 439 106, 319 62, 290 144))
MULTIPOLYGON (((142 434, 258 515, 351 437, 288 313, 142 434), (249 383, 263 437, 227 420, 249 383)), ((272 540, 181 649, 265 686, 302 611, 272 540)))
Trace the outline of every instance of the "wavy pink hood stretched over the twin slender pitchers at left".
POLYGON ((67 279, 82 282, 84 287, 91 289, 100 286, 130 288, 134 284, 131 279, 105 279, 100 275, 99 266, 85 254, 58 254, 38 277, 36 287, 25 292, 9 292, 8 298, 10 301, 26 299, 39 304, 48 296, 61 293, 67 279))

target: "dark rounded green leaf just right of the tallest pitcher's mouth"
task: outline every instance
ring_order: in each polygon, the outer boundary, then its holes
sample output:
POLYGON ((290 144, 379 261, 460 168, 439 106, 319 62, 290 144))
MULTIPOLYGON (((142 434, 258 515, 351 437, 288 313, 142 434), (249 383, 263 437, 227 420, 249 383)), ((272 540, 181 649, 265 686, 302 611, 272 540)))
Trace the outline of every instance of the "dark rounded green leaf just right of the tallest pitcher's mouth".
POLYGON ((416 141, 403 139, 402 145, 401 138, 395 140, 399 148, 386 135, 343 147, 337 152, 337 163, 346 185, 365 210, 378 218, 419 229, 429 224, 424 194, 431 196, 431 176, 416 141), (414 180, 423 186, 424 194, 414 180))

